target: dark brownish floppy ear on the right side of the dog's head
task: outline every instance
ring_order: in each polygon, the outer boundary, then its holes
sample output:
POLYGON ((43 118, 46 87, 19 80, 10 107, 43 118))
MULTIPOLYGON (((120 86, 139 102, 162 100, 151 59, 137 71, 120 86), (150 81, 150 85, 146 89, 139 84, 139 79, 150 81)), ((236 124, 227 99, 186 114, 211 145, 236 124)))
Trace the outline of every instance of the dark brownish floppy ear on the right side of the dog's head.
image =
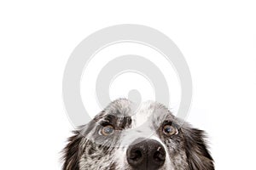
POLYGON ((214 170, 204 132, 196 128, 186 128, 184 131, 189 170, 214 170))

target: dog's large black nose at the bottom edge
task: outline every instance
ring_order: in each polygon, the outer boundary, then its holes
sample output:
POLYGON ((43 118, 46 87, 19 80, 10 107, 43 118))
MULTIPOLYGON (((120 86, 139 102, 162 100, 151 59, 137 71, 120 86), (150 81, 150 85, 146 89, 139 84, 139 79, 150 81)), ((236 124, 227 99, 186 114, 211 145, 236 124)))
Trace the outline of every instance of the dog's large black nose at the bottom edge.
POLYGON ((166 150, 154 139, 137 139, 126 152, 128 163, 135 169, 158 169, 166 161, 166 150))

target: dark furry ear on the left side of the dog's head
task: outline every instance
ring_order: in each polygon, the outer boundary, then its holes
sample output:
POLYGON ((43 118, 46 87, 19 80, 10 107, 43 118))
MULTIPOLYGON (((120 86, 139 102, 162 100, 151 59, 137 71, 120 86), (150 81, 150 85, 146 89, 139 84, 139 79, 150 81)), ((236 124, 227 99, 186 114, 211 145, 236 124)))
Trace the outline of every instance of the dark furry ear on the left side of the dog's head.
POLYGON ((63 170, 79 170, 79 159, 82 155, 80 145, 83 136, 78 131, 73 133, 74 135, 68 139, 68 144, 63 150, 63 170))

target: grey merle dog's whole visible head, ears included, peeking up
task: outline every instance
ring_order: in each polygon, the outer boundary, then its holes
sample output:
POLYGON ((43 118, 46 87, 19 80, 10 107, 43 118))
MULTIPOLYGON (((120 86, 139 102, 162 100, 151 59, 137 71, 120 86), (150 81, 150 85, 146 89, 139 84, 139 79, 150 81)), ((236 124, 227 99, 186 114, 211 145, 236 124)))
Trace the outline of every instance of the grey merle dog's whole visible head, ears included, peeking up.
POLYGON ((213 170, 203 131, 164 106, 113 101, 80 127, 64 151, 64 170, 213 170))

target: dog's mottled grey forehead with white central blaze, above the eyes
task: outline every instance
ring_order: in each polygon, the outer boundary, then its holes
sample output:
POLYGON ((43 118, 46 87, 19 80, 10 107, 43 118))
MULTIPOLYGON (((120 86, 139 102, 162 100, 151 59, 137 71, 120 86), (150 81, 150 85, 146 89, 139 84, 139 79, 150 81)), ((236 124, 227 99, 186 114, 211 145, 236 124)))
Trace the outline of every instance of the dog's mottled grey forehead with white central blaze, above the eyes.
POLYGON ((148 100, 136 105, 129 99, 116 99, 96 116, 96 121, 113 117, 115 123, 122 124, 128 118, 131 119, 132 127, 140 127, 145 123, 159 126, 168 115, 172 114, 166 106, 155 101, 148 100))

